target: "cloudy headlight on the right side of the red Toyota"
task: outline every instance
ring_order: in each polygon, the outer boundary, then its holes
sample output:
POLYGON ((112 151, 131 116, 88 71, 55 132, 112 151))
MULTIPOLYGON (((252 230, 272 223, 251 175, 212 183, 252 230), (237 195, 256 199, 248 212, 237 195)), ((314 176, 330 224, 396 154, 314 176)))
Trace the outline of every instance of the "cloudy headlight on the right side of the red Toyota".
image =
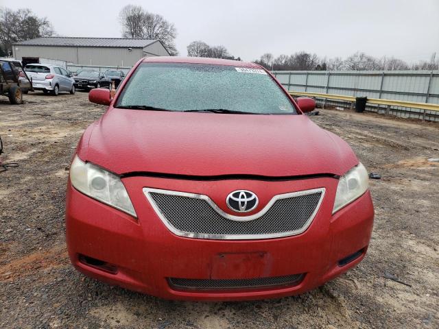
POLYGON ((368 185, 368 171, 364 165, 359 162, 357 166, 353 167, 353 169, 340 178, 332 213, 350 204, 358 197, 361 197, 361 195, 368 190, 368 185))

